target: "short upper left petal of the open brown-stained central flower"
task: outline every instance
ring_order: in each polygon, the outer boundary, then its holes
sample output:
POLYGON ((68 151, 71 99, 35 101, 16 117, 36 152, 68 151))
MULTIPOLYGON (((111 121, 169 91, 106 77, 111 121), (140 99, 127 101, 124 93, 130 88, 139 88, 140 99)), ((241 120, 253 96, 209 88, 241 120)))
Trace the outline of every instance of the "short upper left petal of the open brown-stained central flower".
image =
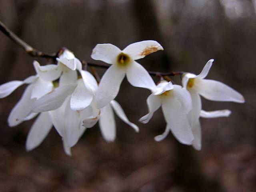
POLYGON ((121 50, 112 44, 97 44, 92 50, 91 58, 115 64, 120 53, 121 50))

